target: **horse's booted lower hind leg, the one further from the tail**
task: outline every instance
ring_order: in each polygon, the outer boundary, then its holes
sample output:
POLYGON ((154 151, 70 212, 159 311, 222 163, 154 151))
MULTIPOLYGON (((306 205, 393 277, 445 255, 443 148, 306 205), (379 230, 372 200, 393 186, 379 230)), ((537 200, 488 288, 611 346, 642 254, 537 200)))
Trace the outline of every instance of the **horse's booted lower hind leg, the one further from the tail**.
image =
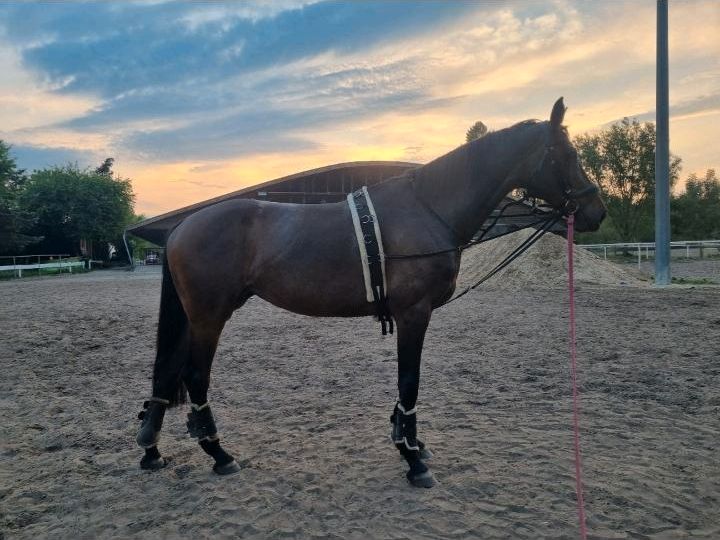
POLYGON ((213 471, 226 475, 238 472, 240 466, 220 445, 220 436, 207 396, 210 370, 223 324, 191 328, 190 361, 183 370, 182 378, 191 401, 187 417, 188 433, 197 438, 200 447, 215 460, 213 471))

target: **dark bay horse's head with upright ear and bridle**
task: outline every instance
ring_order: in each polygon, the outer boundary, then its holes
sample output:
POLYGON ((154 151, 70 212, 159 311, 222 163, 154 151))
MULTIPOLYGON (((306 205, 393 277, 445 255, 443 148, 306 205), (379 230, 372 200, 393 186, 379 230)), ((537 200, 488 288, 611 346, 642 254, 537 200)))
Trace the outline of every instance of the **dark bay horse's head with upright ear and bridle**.
POLYGON ((550 113, 540 164, 523 187, 531 197, 543 199, 565 214, 574 214, 578 231, 596 231, 607 208, 600 198, 600 189, 580 164, 577 150, 562 125, 564 117, 565 105, 560 98, 550 113))

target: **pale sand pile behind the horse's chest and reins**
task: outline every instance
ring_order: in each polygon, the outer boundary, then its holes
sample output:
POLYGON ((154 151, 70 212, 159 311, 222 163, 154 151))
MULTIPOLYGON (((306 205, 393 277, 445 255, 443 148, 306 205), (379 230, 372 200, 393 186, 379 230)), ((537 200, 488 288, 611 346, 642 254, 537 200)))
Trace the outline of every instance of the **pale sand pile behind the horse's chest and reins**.
MULTIPOLYGON (((477 282, 513 249, 522 244, 534 229, 495 238, 473 246, 463 253, 457 291, 477 282)), ((495 287, 563 287, 567 283, 567 243, 548 233, 510 266, 486 283, 495 287)), ((608 262, 586 249, 575 246, 575 282, 587 285, 643 286, 645 283, 627 270, 608 262)))

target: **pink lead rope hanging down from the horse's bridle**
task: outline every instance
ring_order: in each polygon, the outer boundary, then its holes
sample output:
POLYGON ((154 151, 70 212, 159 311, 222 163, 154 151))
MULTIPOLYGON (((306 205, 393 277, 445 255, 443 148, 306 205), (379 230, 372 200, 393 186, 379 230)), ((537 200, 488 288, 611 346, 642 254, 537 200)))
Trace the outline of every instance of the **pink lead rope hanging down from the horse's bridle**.
POLYGON ((587 539, 585 528, 585 502, 582 495, 582 462, 580 459, 580 403, 577 391, 577 347, 575 342, 575 275, 573 268, 573 243, 575 216, 567 217, 568 225, 568 292, 570 300, 570 367, 573 383, 573 424, 575 431, 575 492, 577 493, 578 520, 580 521, 580 538, 587 539))

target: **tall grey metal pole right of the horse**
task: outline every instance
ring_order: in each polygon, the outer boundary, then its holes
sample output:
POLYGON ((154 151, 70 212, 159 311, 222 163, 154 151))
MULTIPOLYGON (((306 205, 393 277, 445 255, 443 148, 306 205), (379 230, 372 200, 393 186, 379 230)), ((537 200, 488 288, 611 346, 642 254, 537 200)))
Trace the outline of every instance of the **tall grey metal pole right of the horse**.
POLYGON ((668 3, 657 4, 657 89, 655 91, 655 285, 670 284, 670 128, 668 89, 668 3))

